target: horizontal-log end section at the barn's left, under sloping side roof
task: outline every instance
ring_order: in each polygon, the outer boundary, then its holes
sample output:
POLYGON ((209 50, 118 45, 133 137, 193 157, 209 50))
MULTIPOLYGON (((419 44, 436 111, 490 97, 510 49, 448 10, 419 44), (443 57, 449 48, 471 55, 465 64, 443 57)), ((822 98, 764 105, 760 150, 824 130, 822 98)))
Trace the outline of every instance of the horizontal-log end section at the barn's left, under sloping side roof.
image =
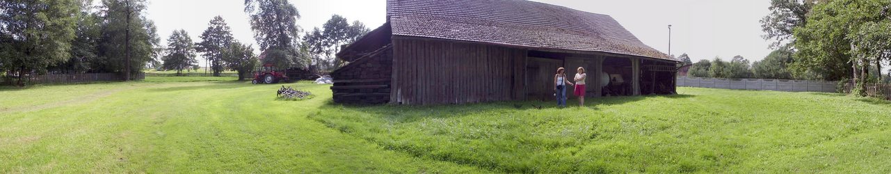
POLYGON ((384 47, 331 72, 335 103, 386 104, 390 99, 393 49, 384 47))

